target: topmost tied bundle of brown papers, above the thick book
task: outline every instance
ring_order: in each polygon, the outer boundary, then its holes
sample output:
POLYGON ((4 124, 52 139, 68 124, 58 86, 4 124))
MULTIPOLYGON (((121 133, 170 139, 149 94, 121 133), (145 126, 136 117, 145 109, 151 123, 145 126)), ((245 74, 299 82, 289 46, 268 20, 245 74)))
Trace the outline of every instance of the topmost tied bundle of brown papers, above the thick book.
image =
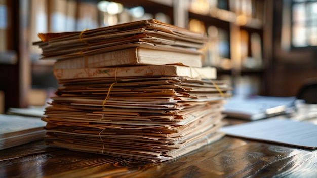
MULTIPOLYGON (((94 55, 98 56, 98 54, 111 51, 120 51, 120 54, 112 54, 112 56, 121 55, 123 57, 125 51, 122 50, 138 47, 160 51, 157 55, 162 53, 168 55, 169 52, 177 52, 178 55, 187 54, 193 59, 193 64, 201 63, 201 61, 195 60, 194 56, 200 57, 202 55, 202 52, 197 49, 203 48, 208 41, 204 34, 191 32, 154 19, 82 32, 40 33, 39 38, 41 41, 33 44, 41 47, 43 51, 41 59, 61 60, 83 56, 93 58, 94 55)), ((153 51, 151 52, 153 57, 153 51)), ((168 59, 166 58, 166 60, 168 59)), ((113 66, 115 65, 118 64, 113 63, 113 66)))

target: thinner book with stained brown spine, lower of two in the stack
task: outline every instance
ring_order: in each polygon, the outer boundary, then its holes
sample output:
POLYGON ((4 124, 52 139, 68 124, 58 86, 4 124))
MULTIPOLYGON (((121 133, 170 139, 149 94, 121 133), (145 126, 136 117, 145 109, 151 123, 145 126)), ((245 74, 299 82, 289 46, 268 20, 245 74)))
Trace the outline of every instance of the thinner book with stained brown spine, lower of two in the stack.
POLYGON ((183 76, 191 78, 216 79, 214 67, 187 67, 182 65, 142 65, 100 68, 54 68, 57 80, 78 78, 183 76))

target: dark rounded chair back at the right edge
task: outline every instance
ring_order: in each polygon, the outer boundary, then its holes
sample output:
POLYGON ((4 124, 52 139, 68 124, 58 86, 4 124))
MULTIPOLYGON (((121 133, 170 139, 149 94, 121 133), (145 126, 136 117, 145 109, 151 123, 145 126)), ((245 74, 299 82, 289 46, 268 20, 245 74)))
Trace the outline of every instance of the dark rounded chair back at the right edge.
POLYGON ((307 79, 298 90, 297 98, 307 104, 317 104, 317 78, 307 79))

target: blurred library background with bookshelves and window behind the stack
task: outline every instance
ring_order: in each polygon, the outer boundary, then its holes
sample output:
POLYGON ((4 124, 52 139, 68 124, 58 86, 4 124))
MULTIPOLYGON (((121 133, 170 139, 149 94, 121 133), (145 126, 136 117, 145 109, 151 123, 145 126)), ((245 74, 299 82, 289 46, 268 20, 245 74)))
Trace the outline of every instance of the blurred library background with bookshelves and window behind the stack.
POLYGON ((234 95, 295 96, 317 77, 317 1, 0 0, 0 113, 45 105, 57 81, 38 33, 156 19, 208 34, 204 66, 234 95))

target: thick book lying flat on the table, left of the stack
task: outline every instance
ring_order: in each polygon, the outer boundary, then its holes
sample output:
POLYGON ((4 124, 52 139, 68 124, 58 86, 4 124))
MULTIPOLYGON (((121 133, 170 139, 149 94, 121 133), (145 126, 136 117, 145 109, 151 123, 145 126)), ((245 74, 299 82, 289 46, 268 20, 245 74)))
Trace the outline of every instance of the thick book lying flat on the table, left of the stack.
POLYGON ((43 139, 45 125, 40 117, 0 114, 0 150, 43 139))

